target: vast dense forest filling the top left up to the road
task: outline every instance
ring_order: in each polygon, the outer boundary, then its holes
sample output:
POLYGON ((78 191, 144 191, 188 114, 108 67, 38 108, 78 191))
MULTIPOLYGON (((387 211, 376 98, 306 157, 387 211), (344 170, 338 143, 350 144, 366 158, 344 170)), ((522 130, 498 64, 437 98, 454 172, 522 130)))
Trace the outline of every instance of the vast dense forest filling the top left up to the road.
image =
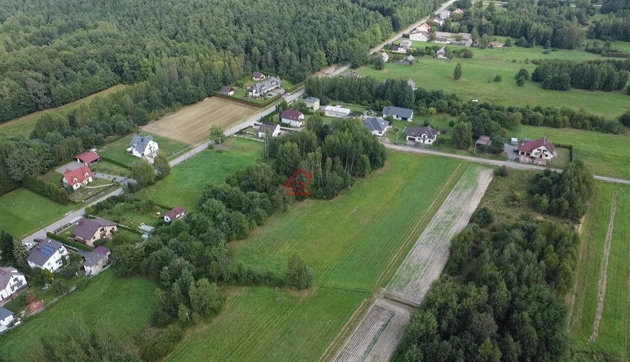
POLYGON ((364 59, 435 3, 0 0, 0 122, 160 71, 166 82, 185 74, 204 95, 253 69, 301 81, 364 59))

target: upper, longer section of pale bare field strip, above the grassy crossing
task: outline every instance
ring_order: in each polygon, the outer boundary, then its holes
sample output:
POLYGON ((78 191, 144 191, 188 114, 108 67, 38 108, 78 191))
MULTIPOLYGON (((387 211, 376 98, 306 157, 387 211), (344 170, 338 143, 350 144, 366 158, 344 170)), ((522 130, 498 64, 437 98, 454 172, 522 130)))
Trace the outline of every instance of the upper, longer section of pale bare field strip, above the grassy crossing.
POLYGON ((464 229, 492 179, 492 170, 471 164, 386 287, 393 300, 417 306, 449 258, 450 239, 464 229))

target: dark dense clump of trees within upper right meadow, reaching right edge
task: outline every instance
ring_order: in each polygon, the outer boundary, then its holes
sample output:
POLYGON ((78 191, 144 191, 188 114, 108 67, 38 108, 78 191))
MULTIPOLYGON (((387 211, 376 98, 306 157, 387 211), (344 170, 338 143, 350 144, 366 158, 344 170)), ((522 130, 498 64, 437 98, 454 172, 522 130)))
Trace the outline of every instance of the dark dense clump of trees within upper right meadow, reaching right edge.
POLYGON ((571 87, 591 91, 616 91, 628 81, 630 59, 626 60, 543 60, 532 73, 542 88, 568 91, 571 87))

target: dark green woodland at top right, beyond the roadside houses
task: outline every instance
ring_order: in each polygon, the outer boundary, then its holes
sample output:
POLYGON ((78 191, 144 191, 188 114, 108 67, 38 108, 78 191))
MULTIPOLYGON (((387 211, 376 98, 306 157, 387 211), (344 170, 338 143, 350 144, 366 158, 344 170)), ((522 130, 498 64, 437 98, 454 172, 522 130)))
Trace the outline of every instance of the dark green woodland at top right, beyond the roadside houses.
POLYGON ((479 35, 487 34, 524 38, 528 46, 549 45, 556 48, 580 47, 584 34, 579 25, 586 25, 588 17, 595 14, 590 4, 580 2, 576 7, 566 1, 543 0, 508 1, 506 10, 490 3, 483 8, 481 1, 471 6, 469 1, 459 1, 465 9, 461 25, 479 35))

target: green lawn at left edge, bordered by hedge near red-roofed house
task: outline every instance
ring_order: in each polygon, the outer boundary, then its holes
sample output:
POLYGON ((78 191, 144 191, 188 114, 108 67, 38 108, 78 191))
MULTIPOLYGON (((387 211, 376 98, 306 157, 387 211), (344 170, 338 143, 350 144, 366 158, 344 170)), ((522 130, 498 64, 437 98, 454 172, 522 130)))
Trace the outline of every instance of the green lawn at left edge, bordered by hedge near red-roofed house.
POLYGON ((72 205, 60 205, 33 191, 19 188, 0 196, 0 229, 14 237, 23 237, 70 211, 72 205))

